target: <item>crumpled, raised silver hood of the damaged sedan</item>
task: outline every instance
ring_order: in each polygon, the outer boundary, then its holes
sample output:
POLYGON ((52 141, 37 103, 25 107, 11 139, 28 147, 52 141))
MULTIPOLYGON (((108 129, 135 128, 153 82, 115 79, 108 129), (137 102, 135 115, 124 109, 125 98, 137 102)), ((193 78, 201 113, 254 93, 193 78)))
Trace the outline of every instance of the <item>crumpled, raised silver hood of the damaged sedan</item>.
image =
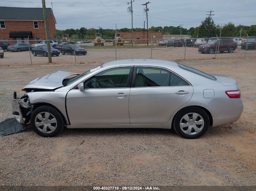
POLYGON ((44 90, 53 90, 63 86, 62 81, 70 75, 78 75, 72 72, 56 71, 46 75, 43 75, 39 78, 36 78, 28 85, 26 85, 22 90, 29 91, 31 89, 44 89, 44 90))

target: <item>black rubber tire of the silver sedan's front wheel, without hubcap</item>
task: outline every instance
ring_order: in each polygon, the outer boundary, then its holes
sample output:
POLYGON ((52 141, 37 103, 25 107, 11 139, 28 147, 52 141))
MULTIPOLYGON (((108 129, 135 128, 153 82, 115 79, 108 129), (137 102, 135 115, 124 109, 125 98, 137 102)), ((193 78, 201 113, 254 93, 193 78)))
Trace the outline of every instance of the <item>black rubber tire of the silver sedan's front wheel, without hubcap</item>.
POLYGON ((38 135, 41 135, 43 137, 54 137, 55 135, 58 135, 62 129, 64 128, 65 126, 65 121, 63 119, 63 116, 62 114, 60 113, 60 111, 58 111, 56 108, 54 107, 51 107, 51 106, 40 106, 38 108, 36 108, 31 117, 30 117, 30 124, 31 124, 31 128, 38 134, 38 135), (55 116, 55 119, 57 120, 57 126, 56 126, 56 129, 51 132, 51 133, 44 133, 42 131, 40 131, 36 126, 35 126, 35 119, 36 119, 36 116, 41 113, 41 112, 48 112, 50 113, 51 115, 55 116))

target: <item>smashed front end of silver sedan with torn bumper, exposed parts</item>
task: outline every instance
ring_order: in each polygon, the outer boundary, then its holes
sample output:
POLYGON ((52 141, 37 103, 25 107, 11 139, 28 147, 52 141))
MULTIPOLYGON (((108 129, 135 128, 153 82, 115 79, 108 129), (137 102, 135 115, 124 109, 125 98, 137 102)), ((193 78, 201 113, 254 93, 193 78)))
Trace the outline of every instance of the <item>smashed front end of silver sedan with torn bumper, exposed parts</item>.
POLYGON ((12 114, 15 116, 18 123, 27 124, 30 121, 32 109, 32 104, 29 102, 28 95, 25 93, 21 98, 18 98, 17 93, 14 91, 12 99, 12 114))

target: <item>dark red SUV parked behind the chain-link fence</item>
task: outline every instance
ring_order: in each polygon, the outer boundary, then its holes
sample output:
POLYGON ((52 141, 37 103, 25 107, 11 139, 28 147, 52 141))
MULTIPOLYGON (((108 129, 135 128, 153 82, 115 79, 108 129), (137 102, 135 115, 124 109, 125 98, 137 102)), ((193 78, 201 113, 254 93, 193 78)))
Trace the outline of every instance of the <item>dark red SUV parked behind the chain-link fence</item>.
POLYGON ((213 40, 207 44, 199 46, 198 52, 213 54, 215 53, 216 46, 217 52, 223 53, 227 51, 228 53, 233 53, 237 48, 237 43, 230 39, 213 40))

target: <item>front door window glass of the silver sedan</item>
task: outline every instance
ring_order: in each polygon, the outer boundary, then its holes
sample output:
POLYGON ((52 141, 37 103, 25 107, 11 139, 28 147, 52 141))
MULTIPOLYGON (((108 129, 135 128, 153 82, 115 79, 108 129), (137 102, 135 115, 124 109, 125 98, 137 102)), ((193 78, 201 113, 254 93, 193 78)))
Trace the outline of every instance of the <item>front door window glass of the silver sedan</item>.
POLYGON ((110 68, 92 76, 84 88, 126 88, 131 67, 110 68))

